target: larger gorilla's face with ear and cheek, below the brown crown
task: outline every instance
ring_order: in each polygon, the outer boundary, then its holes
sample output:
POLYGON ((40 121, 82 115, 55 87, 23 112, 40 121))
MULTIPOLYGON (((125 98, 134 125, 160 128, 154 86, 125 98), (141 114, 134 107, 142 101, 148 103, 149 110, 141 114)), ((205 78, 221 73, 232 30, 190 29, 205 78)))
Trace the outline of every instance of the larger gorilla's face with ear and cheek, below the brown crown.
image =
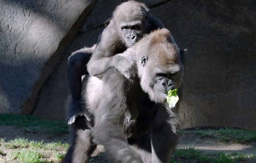
POLYGON ((141 64, 143 66, 141 82, 144 82, 141 84, 143 84, 144 90, 150 95, 152 101, 163 103, 168 91, 179 88, 181 85, 183 73, 181 62, 173 61, 165 65, 157 63, 154 57, 143 56, 141 64), (146 76, 147 78, 143 78, 146 76))

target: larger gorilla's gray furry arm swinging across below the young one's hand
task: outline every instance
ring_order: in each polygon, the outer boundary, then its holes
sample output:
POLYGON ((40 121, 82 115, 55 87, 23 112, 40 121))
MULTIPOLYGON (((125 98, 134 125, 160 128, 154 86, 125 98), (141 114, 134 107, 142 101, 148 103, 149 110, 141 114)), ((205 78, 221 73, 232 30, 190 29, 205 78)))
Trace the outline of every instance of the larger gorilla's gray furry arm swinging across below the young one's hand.
POLYGON ((94 141, 104 146, 114 162, 141 163, 140 155, 129 146, 123 129, 129 80, 115 69, 108 70, 102 80, 104 98, 94 115, 94 141))

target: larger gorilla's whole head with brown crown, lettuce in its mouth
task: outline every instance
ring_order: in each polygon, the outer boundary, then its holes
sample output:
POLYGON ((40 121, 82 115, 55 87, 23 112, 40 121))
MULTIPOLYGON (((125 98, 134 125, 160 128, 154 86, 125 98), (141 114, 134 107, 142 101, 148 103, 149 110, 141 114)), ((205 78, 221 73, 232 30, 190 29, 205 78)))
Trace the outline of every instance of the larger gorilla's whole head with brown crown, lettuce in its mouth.
POLYGON ((150 33, 134 48, 143 91, 152 101, 163 103, 167 92, 181 85, 183 65, 179 48, 167 29, 150 33))

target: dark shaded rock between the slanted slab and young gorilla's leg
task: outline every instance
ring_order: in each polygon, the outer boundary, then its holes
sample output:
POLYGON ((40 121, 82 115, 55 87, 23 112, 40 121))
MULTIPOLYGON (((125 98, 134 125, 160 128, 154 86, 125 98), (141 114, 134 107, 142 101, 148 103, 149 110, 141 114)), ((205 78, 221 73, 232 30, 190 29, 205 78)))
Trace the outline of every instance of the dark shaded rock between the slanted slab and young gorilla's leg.
POLYGON ((97 42, 98 35, 103 28, 95 29, 78 35, 68 46, 58 68, 51 75, 49 80, 42 87, 38 95, 38 103, 33 115, 41 116, 47 119, 64 120, 65 103, 67 96, 70 94, 67 84, 67 58, 70 54, 82 47, 90 47, 97 42), (85 39, 90 38, 90 39, 85 39))

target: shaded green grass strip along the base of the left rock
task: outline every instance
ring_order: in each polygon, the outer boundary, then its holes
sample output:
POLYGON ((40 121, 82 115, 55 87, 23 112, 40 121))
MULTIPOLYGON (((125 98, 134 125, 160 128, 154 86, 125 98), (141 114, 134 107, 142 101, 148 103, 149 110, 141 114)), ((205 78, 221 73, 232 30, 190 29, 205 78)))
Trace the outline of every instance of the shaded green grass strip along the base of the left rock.
POLYGON ((50 121, 36 116, 0 114, 0 125, 26 127, 29 132, 47 132, 50 134, 67 133, 66 121, 50 121))

